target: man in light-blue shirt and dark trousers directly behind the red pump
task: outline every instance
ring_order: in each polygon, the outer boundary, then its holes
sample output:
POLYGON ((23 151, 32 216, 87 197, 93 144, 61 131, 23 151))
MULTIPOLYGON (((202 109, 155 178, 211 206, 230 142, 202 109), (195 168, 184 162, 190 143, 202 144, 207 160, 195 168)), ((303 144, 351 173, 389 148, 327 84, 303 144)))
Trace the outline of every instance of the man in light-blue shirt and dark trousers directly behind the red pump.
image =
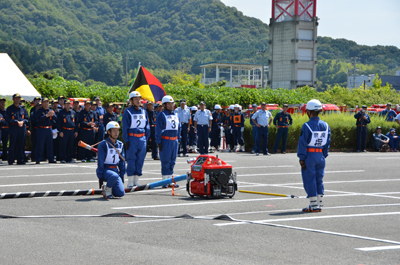
POLYGON ((193 117, 194 132, 197 133, 197 147, 201 155, 208 154, 208 134, 211 132, 212 114, 206 109, 204 101, 200 102, 200 109, 193 117))

